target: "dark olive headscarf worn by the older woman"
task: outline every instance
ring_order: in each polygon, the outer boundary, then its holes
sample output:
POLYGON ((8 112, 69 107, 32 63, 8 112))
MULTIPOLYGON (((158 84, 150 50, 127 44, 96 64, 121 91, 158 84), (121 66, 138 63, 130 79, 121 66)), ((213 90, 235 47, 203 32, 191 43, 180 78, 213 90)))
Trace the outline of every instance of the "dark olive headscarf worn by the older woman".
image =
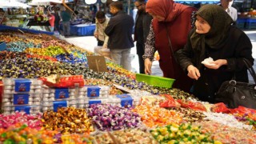
POLYGON ((202 6, 196 15, 200 16, 210 25, 210 31, 207 34, 198 34, 194 30, 190 40, 193 49, 200 52, 199 60, 202 61, 205 57, 205 45, 211 49, 222 47, 228 36, 231 23, 233 22, 230 15, 226 13, 221 6, 205 5, 202 6))

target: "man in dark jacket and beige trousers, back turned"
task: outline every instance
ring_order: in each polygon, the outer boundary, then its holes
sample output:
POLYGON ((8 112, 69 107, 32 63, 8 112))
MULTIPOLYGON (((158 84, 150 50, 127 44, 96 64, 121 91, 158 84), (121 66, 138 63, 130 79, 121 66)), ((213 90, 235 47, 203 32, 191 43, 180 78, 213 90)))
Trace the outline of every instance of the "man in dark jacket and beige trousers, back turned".
POLYGON ((126 70, 131 70, 130 48, 134 47, 132 38, 134 19, 122 11, 122 2, 110 3, 110 18, 105 33, 109 36, 108 48, 111 58, 126 70))

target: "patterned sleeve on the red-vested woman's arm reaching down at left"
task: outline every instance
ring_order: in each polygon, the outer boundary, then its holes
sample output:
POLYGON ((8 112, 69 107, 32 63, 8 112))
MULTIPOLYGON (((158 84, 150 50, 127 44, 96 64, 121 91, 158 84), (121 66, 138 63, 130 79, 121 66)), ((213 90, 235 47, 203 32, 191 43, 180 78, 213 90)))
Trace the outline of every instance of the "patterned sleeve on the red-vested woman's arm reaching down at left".
POLYGON ((151 22, 150 24, 150 33, 146 38, 146 43, 145 43, 145 54, 142 56, 144 59, 145 58, 150 58, 150 61, 153 61, 154 59, 154 52, 155 46, 154 46, 154 30, 153 30, 153 24, 151 22))

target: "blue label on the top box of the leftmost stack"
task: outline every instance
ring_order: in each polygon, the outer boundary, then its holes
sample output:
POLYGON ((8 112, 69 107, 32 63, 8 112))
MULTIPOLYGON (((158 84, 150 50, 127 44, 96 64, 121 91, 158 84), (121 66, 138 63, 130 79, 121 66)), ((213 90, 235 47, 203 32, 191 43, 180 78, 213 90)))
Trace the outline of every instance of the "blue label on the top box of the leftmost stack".
POLYGON ((29 79, 15 80, 15 91, 30 92, 30 84, 31 82, 29 79))

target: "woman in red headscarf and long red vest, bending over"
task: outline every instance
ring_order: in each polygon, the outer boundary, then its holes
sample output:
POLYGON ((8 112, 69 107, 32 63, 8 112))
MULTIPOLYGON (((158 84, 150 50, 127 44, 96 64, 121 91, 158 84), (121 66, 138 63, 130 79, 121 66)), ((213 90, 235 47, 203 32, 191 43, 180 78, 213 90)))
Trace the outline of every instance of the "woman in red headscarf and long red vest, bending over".
POLYGON ((193 27, 195 11, 194 7, 174 3, 173 0, 149 0, 146 3, 146 12, 154 19, 143 55, 145 73, 151 74, 154 52, 158 50, 163 76, 174 78, 173 87, 186 92, 190 91, 192 81, 175 61, 173 52, 185 46, 186 37, 193 27))

